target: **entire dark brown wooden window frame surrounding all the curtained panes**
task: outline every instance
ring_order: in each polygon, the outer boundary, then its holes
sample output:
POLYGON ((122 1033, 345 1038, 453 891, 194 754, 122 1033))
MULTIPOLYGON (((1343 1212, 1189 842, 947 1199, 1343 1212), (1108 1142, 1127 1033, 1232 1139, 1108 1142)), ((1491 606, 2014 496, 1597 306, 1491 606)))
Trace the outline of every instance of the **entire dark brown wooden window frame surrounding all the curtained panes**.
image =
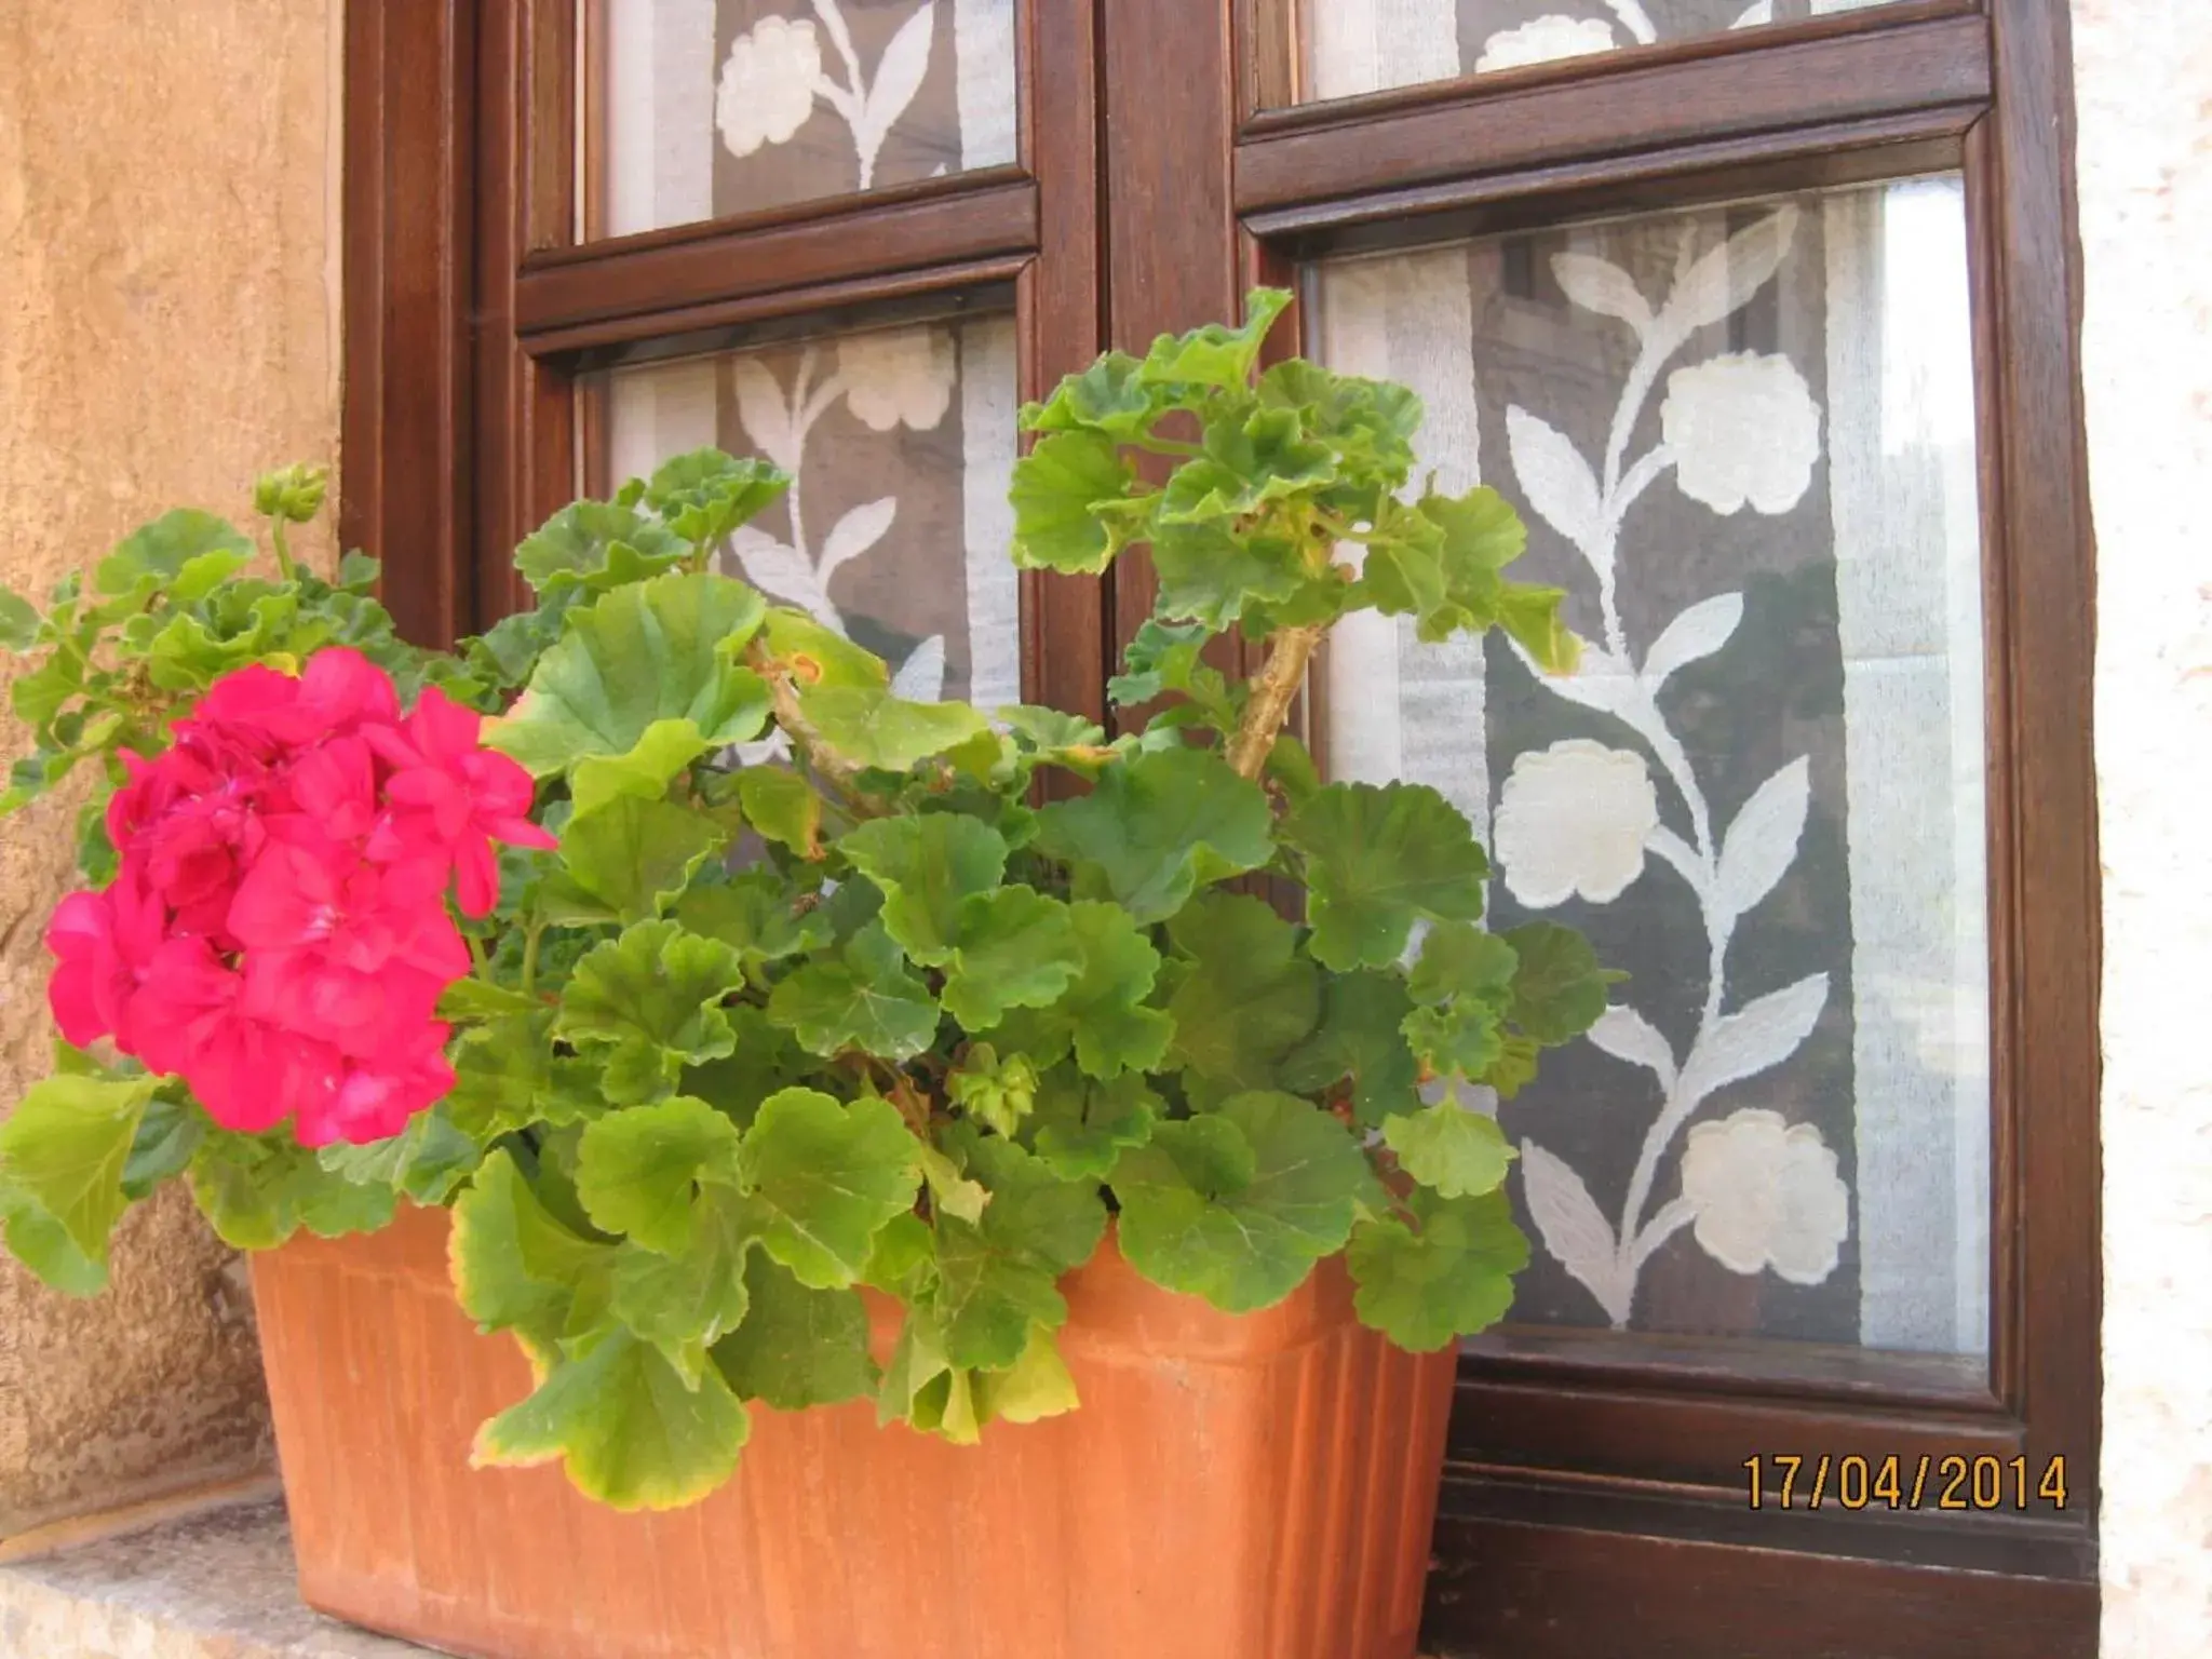
MULTIPOLYGON (((1601 1334, 1462 1358, 1429 1637, 1515 1659, 2095 1652, 2093 533, 2066 0, 1902 0, 1285 102, 1294 0, 1024 0, 1022 161, 571 246, 571 0, 347 9, 341 524, 418 639, 511 608, 575 376, 639 341, 1013 292, 1022 394, 1254 281, 1413 241, 1958 168, 1984 495, 1993 1285, 1984 1363, 1601 1334), (1117 119, 1141 88, 1141 119, 1117 119), (1637 1365, 1613 1352, 1635 1345, 1637 1365), (1750 1451, 2064 1455, 2064 1515, 1750 1513, 1750 1451)), ((1135 100, 1133 100, 1135 102, 1135 100)), ((1150 615, 1024 577, 1024 688, 1104 714, 1150 615)))

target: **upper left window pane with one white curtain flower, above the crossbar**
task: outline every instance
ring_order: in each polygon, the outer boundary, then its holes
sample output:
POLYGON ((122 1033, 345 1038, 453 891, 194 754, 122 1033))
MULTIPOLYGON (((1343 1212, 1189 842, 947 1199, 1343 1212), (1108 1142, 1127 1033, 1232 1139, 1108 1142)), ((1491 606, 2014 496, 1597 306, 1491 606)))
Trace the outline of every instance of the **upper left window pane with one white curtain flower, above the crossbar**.
POLYGON ((608 0, 591 234, 1015 159, 1013 0, 608 0))

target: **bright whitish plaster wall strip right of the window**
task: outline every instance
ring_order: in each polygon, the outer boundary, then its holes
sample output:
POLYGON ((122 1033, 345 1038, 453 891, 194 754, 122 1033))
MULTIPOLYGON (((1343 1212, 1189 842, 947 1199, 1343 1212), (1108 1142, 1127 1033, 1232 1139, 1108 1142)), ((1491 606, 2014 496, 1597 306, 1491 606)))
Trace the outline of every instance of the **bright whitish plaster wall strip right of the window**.
POLYGON ((2073 0, 2104 845, 2104 1655, 2212 1652, 2212 4, 2073 0))

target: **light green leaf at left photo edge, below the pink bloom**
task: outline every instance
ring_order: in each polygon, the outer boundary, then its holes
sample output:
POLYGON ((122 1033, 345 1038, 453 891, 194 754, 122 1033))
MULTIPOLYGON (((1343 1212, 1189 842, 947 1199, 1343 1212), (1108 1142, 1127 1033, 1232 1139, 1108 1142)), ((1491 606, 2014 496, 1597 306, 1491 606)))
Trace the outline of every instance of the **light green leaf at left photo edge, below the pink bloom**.
POLYGON ((58 1290, 106 1283, 108 1234, 128 1208, 124 1166, 153 1088, 153 1077, 46 1077, 0 1124, 9 1248, 58 1290))

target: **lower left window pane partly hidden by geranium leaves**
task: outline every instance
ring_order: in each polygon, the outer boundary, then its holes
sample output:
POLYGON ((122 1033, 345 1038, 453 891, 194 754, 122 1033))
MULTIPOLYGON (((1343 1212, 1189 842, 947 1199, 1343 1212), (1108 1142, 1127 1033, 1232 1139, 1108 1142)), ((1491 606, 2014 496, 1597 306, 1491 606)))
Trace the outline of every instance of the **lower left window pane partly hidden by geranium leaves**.
POLYGON ((878 653, 900 695, 1020 701, 1011 319, 615 369, 604 411, 617 482, 703 445, 785 467, 723 568, 878 653))

